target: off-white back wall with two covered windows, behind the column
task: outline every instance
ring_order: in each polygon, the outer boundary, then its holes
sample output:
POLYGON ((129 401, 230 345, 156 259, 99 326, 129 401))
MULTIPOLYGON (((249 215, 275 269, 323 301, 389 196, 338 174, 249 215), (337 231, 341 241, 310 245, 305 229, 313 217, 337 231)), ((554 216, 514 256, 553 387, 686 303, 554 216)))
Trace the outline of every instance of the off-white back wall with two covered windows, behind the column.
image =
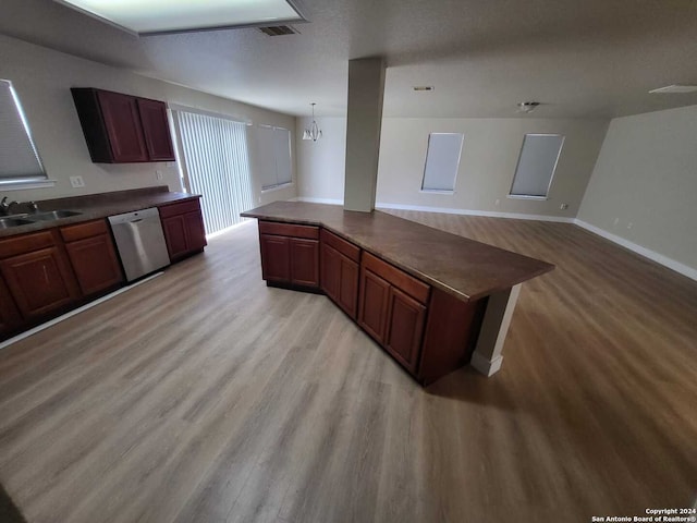
MULTIPOLYGON (((298 196, 341 200, 345 156, 345 135, 341 132, 345 133, 345 119, 326 118, 318 123, 325 131, 322 141, 308 147, 298 145, 298 196)), ((298 119, 298 130, 306 124, 306 120, 298 119)), ((377 203, 573 219, 607 127, 607 120, 384 118, 377 203), (420 192, 431 132, 465 135, 452 195, 420 192), (547 200, 506 197, 526 133, 566 136, 547 200), (560 209, 562 203, 568 208, 560 209)))

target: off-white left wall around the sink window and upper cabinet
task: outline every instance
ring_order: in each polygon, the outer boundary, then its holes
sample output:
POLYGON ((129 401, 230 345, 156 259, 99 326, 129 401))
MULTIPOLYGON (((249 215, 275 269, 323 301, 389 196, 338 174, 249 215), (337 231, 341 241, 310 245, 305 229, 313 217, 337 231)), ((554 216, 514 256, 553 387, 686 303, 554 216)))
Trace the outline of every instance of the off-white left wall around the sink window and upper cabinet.
MULTIPOLYGON (((93 163, 70 87, 99 87, 237 117, 255 124, 278 125, 292 133, 295 130, 295 118, 291 115, 147 78, 2 35, 0 78, 13 83, 44 167, 48 177, 57 181, 56 186, 49 188, 13 191, 11 199, 49 199, 163 184, 171 191, 181 188, 175 162, 93 163), (163 180, 157 179, 157 170, 162 171, 163 180), (75 174, 83 177, 85 187, 71 187, 69 177, 75 174)), ((249 136, 253 137, 254 133, 249 136)), ((296 184, 261 194, 259 178, 254 175, 258 156, 254 143, 249 149, 255 202, 294 197, 296 184)))

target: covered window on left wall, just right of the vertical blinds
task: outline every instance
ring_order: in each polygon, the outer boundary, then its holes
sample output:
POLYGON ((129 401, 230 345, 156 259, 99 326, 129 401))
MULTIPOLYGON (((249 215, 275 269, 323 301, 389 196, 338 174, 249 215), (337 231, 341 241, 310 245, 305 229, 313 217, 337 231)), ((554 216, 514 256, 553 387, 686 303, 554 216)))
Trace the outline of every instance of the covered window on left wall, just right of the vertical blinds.
POLYGON ((291 132, 283 127, 259 125, 257 136, 261 191, 291 183, 291 132))

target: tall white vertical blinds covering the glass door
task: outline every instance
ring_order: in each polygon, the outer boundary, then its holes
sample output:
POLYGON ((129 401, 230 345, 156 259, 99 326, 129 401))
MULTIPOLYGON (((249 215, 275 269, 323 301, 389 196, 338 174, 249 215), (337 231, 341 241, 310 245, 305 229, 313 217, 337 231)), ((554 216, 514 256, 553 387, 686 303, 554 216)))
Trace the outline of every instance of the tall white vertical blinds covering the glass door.
POLYGON ((188 188, 201 194, 206 233, 240 223, 254 207, 247 125, 224 118, 175 111, 188 188))

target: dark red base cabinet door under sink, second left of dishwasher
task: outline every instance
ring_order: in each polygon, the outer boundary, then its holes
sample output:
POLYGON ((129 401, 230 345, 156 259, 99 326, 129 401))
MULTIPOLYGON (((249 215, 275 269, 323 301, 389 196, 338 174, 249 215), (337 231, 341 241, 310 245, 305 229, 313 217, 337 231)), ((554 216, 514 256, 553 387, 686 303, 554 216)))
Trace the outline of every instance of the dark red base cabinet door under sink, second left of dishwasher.
POLYGON ((0 262, 2 276, 24 318, 36 318, 78 297, 77 287, 57 247, 0 262))

